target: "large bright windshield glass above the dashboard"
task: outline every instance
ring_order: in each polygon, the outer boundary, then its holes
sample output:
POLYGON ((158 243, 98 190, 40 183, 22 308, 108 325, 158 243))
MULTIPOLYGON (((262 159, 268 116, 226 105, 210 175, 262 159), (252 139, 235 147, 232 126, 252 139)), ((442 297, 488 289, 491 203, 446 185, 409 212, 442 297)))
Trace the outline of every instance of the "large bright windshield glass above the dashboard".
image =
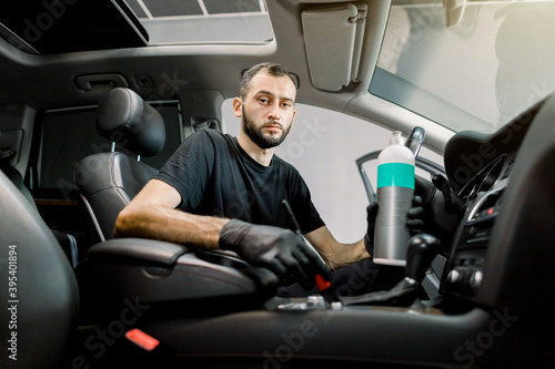
POLYGON ((455 132, 495 131, 555 91, 554 19, 555 1, 467 1, 447 18, 442 1, 394 0, 370 92, 455 132))

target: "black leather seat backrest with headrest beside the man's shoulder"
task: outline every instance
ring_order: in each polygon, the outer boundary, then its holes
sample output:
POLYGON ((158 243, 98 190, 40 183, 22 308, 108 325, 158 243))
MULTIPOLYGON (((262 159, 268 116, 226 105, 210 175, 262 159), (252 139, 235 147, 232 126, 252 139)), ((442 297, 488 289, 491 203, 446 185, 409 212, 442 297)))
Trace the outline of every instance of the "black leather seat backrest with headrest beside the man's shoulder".
POLYGON ((165 143, 162 116, 130 89, 117 88, 102 98, 95 124, 98 132, 112 143, 112 151, 89 155, 75 168, 92 244, 113 238, 118 214, 158 173, 141 163, 140 157, 158 154, 165 143), (115 152, 115 144, 137 156, 115 152))

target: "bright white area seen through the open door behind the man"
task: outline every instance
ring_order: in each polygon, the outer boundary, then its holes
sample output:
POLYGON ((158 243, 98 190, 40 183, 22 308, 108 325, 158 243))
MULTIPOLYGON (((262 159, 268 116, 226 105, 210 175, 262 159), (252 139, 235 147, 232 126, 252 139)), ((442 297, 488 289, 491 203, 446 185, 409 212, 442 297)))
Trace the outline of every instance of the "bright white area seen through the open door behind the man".
MULTIPOLYGON (((226 132, 238 135, 241 122, 233 115, 231 102, 224 102, 222 115, 226 132)), ((295 106, 293 126, 276 154, 302 174, 332 234, 341 242, 357 242, 366 232, 369 197, 356 160, 384 148, 391 131, 327 109, 295 106)), ((443 165, 442 156, 426 147, 420 156, 443 165)), ((370 177, 376 181, 372 174, 370 177)))

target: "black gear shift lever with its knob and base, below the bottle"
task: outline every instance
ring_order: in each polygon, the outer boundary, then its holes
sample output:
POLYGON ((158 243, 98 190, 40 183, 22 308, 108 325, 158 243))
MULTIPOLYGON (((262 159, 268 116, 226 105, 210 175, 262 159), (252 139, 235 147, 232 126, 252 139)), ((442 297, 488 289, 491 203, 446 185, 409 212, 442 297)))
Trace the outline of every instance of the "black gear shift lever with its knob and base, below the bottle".
POLYGON ((370 293, 361 296, 340 297, 344 305, 411 306, 432 259, 440 252, 440 239, 420 234, 408 240, 405 277, 390 290, 370 293))

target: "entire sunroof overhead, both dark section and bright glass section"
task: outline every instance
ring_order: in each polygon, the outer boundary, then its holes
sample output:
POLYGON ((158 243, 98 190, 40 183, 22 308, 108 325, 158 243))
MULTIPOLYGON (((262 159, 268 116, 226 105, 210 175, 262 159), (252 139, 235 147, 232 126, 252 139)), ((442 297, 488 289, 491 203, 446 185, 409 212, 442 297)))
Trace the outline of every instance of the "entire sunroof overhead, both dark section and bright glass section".
POLYGON ((0 12, 0 38, 26 52, 54 54, 165 44, 259 44, 274 37, 264 0, 49 3, 12 2, 0 12))

